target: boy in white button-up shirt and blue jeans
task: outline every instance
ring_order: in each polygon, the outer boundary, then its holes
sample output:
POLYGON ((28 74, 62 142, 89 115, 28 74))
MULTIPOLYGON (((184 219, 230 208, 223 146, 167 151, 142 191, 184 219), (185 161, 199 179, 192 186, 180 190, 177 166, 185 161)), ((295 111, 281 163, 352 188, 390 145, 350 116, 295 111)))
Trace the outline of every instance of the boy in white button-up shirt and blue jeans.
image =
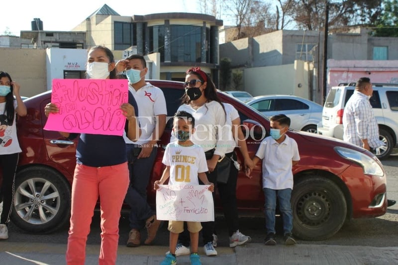
MULTIPOLYGON (((293 138, 286 135, 289 130, 290 118, 284 114, 270 118, 270 135, 260 144, 253 163, 263 160, 263 191, 265 196, 265 226, 267 237, 265 245, 276 245, 275 240, 275 208, 277 197, 279 210, 283 218, 285 245, 295 245, 292 237, 293 211, 290 198, 293 189, 292 167, 298 164, 300 156, 298 146, 293 138)), ((250 169, 246 170, 250 176, 250 169)))

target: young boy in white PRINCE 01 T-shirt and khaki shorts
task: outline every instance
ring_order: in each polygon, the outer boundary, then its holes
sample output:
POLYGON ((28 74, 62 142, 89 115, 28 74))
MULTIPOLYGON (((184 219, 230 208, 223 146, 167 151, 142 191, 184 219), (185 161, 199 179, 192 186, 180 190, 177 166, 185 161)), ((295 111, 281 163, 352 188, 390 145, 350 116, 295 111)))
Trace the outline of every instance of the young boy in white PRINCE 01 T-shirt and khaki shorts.
MULTIPOLYGON (((173 133, 178 139, 176 142, 169 143, 163 156, 163 164, 166 169, 160 180, 154 183, 154 189, 158 189, 170 176, 169 185, 184 182, 184 184, 199 185, 198 178, 205 184, 210 185, 208 190, 213 191, 214 185, 207 179, 207 163, 204 151, 199 145, 191 141, 191 135, 195 132, 195 119, 186 111, 178 111, 174 115, 173 133), (184 160, 173 159, 173 156, 184 160), (182 168, 182 170, 181 170, 182 168), (177 170, 179 169, 179 170, 177 170), (184 174, 182 174, 184 173, 184 174)), ((187 222, 191 237, 191 264, 200 265, 198 255, 199 231, 202 229, 200 222, 187 222)), ((184 221, 169 221, 170 231, 170 253, 166 255, 161 265, 173 265, 177 263, 176 246, 178 235, 184 231, 184 221)))

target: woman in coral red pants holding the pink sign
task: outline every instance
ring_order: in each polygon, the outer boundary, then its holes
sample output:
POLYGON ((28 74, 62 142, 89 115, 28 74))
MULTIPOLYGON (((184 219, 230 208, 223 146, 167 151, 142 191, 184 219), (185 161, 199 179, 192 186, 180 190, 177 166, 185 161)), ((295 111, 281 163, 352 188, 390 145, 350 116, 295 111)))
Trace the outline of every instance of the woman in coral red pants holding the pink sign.
MULTIPOLYGON (((112 52, 103 46, 89 50, 87 74, 90 79, 115 79, 112 52)), ((128 103, 120 106, 126 117, 125 131, 130 140, 140 136, 138 107, 129 92, 128 103)), ((45 106, 45 114, 59 112, 54 103, 45 106)), ((67 139, 77 133, 60 132, 67 139)), ((72 184, 71 219, 66 251, 67 264, 85 263, 86 241, 94 208, 100 197, 101 247, 99 264, 115 264, 119 239, 119 218, 129 177, 126 145, 122 136, 81 133, 76 149, 76 168, 72 184)))

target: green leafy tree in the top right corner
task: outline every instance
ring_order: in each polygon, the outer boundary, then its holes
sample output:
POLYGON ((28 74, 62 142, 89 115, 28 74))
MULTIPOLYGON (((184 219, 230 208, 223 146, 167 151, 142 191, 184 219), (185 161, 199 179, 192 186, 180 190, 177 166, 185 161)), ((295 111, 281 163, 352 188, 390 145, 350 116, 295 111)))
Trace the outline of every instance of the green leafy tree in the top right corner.
POLYGON ((398 0, 384 0, 384 10, 375 23, 373 35, 378 37, 398 37, 398 0))

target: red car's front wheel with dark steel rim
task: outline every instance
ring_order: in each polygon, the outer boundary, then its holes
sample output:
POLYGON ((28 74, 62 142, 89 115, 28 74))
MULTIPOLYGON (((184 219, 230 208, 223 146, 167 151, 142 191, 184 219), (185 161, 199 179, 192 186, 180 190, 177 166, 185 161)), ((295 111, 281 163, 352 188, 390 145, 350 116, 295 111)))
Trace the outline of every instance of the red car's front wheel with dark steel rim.
POLYGON ((298 179, 292 191, 293 234, 303 240, 324 240, 343 226, 347 205, 343 192, 326 177, 298 179))

